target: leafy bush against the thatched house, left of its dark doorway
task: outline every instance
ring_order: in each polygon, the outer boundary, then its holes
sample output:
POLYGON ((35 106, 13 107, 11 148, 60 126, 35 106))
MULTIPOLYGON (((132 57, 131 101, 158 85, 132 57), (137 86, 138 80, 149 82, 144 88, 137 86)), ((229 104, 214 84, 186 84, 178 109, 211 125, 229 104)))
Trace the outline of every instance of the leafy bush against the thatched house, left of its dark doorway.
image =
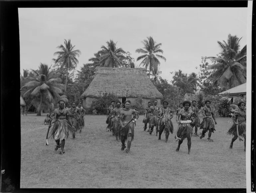
POLYGON ((104 93, 102 97, 99 97, 92 102, 90 113, 105 114, 104 109, 111 105, 111 100, 117 101, 118 98, 112 93, 104 93))

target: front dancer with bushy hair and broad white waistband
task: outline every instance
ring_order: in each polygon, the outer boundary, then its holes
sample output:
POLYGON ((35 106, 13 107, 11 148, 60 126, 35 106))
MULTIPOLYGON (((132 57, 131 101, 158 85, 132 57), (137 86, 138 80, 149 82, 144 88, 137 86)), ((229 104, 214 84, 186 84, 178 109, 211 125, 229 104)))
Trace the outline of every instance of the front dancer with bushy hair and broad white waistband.
POLYGON ((178 147, 176 152, 180 150, 180 146, 185 138, 188 140, 188 154, 190 154, 191 148, 191 137, 193 134, 193 128, 191 126, 192 121, 194 121, 193 113, 190 108, 191 102, 185 100, 182 105, 184 106, 183 109, 180 111, 180 116, 178 119, 178 129, 176 131, 175 139, 176 141, 179 140, 178 147))

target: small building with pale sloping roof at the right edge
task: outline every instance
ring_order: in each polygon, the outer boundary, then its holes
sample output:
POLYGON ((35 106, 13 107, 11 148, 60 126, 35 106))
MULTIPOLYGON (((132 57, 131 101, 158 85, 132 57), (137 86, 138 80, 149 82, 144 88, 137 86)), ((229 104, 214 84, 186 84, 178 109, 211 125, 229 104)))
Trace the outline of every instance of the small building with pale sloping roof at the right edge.
MULTIPOLYGON (((223 91, 223 92, 219 93, 218 95, 225 95, 226 93, 228 93, 228 98, 230 99, 231 102, 233 102, 233 100, 236 97, 238 97, 239 95, 241 97, 243 97, 244 99, 246 99, 246 83, 238 85, 238 86, 228 89, 226 91, 223 91)), ((243 100, 243 98, 242 98, 242 100, 243 100)))

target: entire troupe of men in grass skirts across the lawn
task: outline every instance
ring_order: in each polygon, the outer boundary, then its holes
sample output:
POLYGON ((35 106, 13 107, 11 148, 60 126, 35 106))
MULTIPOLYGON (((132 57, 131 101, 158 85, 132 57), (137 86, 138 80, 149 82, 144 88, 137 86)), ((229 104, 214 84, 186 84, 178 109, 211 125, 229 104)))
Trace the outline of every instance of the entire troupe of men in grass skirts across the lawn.
MULTIPOLYGON (((116 140, 121 140, 122 148, 124 151, 126 148, 125 142, 127 141, 126 153, 130 152, 131 142, 134 139, 134 127, 136 126, 136 121, 139 118, 139 112, 135 109, 131 109, 131 101, 126 100, 124 102, 124 108, 121 107, 120 101, 111 101, 111 105, 108 107, 107 112, 107 130, 112 131, 112 135, 116 137, 116 140)), ((192 103, 188 100, 180 104, 177 110, 176 121, 179 124, 175 133, 175 139, 178 142, 178 147, 176 151, 180 150, 180 146, 185 138, 188 140, 188 154, 190 154, 191 149, 191 137, 199 136, 197 134, 197 128, 202 129, 200 139, 205 137, 206 132, 208 132, 208 142, 213 142, 211 139, 211 134, 215 131, 215 125, 217 124, 213 109, 211 107, 211 101, 206 100, 205 106, 202 108, 201 113, 203 115, 203 120, 200 123, 199 119, 199 109, 196 106, 196 101, 193 100, 192 103), (193 127, 195 127, 195 132, 193 134, 193 127)), ((157 100, 154 100, 154 104, 148 102, 148 106, 145 109, 143 123, 144 131, 147 129, 147 124, 149 124, 149 132, 152 134, 154 127, 156 127, 156 135, 159 133, 158 139, 161 140, 161 135, 165 132, 165 142, 167 143, 170 133, 173 134, 174 127, 172 123, 173 113, 168 107, 169 103, 163 101, 163 106, 157 105, 157 100)), ((244 151, 246 144, 246 111, 245 102, 239 102, 238 108, 233 113, 233 125, 228 130, 227 134, 233 135, 230 149, 233 147, 234 141, 238 138, 239 141, 243 141, 244 138, 244 151)), ((75 138, 75 132, 84 127, 84 109, 81 103, 76 106, 75 102, 72 102, 71 108, 65 107, 64 100, 59 100, 58 108, 54 110, 53 119, 50 122, 51 126, 51 136, 56 141, 56 148, 61 148, 60 154, 64 153, 65 140, 68 138, 69 132, 72 133, 73 139, 75 138)), ((50 128, 50 127, 49 127, 50 128)))

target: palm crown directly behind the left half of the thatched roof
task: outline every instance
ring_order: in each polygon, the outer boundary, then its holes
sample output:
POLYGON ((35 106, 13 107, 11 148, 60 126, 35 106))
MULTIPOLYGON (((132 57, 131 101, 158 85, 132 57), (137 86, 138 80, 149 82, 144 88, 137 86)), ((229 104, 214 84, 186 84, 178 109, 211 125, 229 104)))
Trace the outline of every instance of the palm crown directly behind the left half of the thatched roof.
POLYGON ((113 40, 110 39, 110 41, 107 41, 107 47, 104 45, 101 46, 101 56, 100 59, 100 66, 103 67, 118 67, 121 65, 121 61, 119 59, 120 53, 125 53, 125 51, 122 48, 117 48, 116 43, 114 43, 113 40))

